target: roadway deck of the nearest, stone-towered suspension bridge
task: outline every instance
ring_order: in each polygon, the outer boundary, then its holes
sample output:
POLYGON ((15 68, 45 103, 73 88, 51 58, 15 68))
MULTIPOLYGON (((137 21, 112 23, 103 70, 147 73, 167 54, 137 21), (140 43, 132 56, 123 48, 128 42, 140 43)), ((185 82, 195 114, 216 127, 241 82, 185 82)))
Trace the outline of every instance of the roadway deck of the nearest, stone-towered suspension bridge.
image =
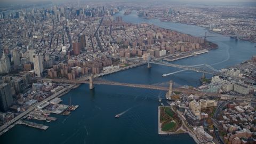
MULTIPOLYGON (((51 79, 51 81, 52 82, 65 82, 65 83, 79 83, 79 84, 89 84, 90 83, 89 81, 79 81, 79 79, 74 79, 74 80, 51 79)), ((129 83, 102 82, 102 81, 93 81, 93 84, 121 85, 121 86, 129 86, 129 87, 139 87, 139 88, 144 88, 144 89, 155 89, 155 90, 169 91, 169 87, 147 85, 147 84, 129 84, 129 83)), ((183 92, 183 93, 205 94, 205 95, 220 97, 220 94, 218 94, 218 93, 201 92, 201 91, 190 90, 190 89, 185 89, 185 88, 172 88, 172 91, 183 92)))

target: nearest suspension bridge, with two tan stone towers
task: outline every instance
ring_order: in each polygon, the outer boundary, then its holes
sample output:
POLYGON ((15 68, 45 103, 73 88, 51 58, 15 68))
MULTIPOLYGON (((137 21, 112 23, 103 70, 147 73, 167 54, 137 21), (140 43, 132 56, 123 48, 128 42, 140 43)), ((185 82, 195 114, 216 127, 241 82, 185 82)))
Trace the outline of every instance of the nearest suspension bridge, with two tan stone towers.
POLYGON ((88 76, 82 79, 51 79, 52 82, 58 83, 80 83, 80 84, 89 84, 90 89, 94 89, 94 84, 104 84, 104 85, 119 85, 119 86, 129 86, 129 87, 138 87, 143 89, 154 89, 154 90, 163 90, 168 91, 168 96, 171 97, 172 91, 182 92, 182 93, 193 93, 193 94, 203 94, 203 95, 212 95, 219 97, 220 94, 218 93, 210 93, 210 92, 202 92, 193 89, 187 89, 184 86, 174 83, 172 81, 163 82, 163 83, 156 83, 156 84, 132 84, 132 83, 120 83, 120 82, 113 82, 108 79, 88 76), (89 80, 89 81, 87 81, 89 80), (173 87, 173 85, 175 87, 173 87))

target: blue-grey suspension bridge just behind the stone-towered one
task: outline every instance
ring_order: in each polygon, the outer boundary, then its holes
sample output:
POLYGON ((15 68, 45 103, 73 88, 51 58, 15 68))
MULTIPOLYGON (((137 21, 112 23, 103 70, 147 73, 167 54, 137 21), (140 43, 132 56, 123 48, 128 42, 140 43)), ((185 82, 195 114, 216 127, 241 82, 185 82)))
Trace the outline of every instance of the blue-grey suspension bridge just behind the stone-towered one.
MULTIPOLYGON (((99 54, 99 55, 103 56, 103 54, 99 54)), ((206 73, 206 74, 212 74, 212 75, 217 75, 217 76, 221 76, 221 77, 231 77, 231 78, 235 78, 235 79, 241 79, 242 81, 248 82, 248 83, 255 83, 254 81, 252 81, 250 79, 237 77, 237 76, 231 76, 231 75, 221 73, 221 72, 219 72, 219 70, 217 70, 217 69, 215 69, 215 68, 213 68, 213 67, 211 67, 211 66, 209 66, 205 63, 200 64, 200 65, 193 65, 193 66, 175 65, 173 63, 163 61, 163 60, 161 60, 161 58, 155 58, 152 55, 148 55, 147 57, 144 57, 144 58, 143 57, 142 58, 127 58, 127 57, 119 57, 119 56, 114 56, 114 55, 106 55, 106 57, 114 58, 114 59, 125 59, 125 60, 129 60, 129 61, 148 63, 148 68, 151 67, 151 63, 154 63, 154 64, 157 64, 157 65, 194 70, 194 71, 203 73, 202 78, 205 78, 205 73, 206 73), (203 67, 203 69, 198 69, 199 67, 203 67)))

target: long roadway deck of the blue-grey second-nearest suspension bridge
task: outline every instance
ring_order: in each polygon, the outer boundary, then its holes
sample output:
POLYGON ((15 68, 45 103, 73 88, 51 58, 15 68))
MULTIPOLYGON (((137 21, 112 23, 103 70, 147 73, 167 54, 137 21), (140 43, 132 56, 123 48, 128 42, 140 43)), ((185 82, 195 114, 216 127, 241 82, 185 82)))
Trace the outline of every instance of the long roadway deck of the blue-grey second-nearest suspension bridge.
MULTIPOLYGON (((102 54, 99 54, 99 55, 102 55, 102 54)), ((145 63, 154 63, 154 64, 157 64, 157 65, 163 65, 163 66, 169 66, 169 67, 177 67, 177 68, 182 68, 182 69, 189 69, 189 70, 199 71, 201 73, 218 75, 218 76, 221 76, 221 77, 231 77, 231 78, 236 78, 236 79, 238 78, 238 79, 242 79, 245 82, 255 83, 254 81, 250 81, 248 79, 241 78, 241 77, 230 76, 230 75, 226 75, 226 74, 222 74, 222 73, 217 73, 217 72, 214 72, 214 71, 202 70, 202 69, 197 69, 197 68, 192 68, 192 67, 187 67, 187 66, 174 65, 174 64, 168 63, 168 62, 161 62, 161 61, 156 61, 156 60, 148 61, 148 60, 143 60, 143 59, 118 57, 118 56, 113 56, 113 55, 106 55, 106 57, 115 58, 115 59, 126 59, 126 60, 145 62, 145 63)))

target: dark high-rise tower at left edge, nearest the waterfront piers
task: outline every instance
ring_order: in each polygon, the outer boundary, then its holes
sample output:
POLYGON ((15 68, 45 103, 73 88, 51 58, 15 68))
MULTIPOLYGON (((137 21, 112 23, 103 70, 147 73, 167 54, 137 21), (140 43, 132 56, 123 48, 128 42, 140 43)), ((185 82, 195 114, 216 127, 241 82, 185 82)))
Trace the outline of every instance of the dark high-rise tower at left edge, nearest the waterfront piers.
POLYGON ((7 111, 13 104, 10 84, 0 84, 0 110, 7 111))

